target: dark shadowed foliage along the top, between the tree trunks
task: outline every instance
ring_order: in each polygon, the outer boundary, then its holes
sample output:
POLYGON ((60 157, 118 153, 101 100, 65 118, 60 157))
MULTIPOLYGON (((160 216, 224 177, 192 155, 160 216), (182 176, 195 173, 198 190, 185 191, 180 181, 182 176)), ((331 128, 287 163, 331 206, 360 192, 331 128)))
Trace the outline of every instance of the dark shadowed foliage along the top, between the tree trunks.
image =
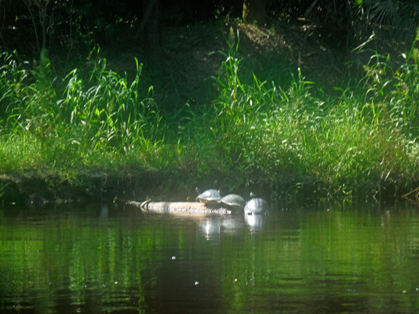
MULTIPOLYGON (((419 1, 408 0, 266 0, 267 23, 299 19, 316 25, 322 40, 337 48, 387 27, 393 35, 413 34, 419 1), (363 37, 362 37, 363 36, 363 37)), ((94 45, 120 48, 120 29, 144 35, 140 29, 145 0, 0 0, 0 46, 38 59, 41 50, 78 51, 86 55, 94 45), (41 10, 40 10, 41 8, 41 10), (41 17, 40 12, 44 16, 41 17), (118 41, 119 40, 119 41, 118 41)), ((162 27, 210 20, 241 18, 243 0, 160 0, 162 27)), ((147 37, 147 36, 146 36, 147 37)), ((145 44, 144 44, 145 45, 145 44)))

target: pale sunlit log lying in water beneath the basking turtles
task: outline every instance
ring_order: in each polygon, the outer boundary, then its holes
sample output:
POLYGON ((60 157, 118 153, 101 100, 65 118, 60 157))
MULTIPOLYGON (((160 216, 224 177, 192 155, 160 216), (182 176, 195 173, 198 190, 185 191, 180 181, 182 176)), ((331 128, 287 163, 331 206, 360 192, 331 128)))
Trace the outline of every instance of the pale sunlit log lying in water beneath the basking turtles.
POLYGON ((229 209, 217 205, 204 204, 199 202, 127 202, 126 204, 140 207, 142 211, 160 211, 173 214, 233 214, 229 209))

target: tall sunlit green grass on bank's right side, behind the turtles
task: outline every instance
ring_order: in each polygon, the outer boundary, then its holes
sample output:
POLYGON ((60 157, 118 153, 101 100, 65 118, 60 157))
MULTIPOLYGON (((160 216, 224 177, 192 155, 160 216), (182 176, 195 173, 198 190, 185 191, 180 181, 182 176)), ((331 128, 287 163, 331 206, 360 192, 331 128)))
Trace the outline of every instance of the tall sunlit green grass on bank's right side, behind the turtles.
POLYGON ((312 96, 314 82, 300 71, 286 91, 257 77, 242 84, 241 61, 230 51, 212 124, 221 156, 253 181, 302 176, 323 182, 329 195, 406 188, 418 179, 419 73, 409 60, 415 44, 397 70, 374 54, 358 87, 339 98, 312 96))

